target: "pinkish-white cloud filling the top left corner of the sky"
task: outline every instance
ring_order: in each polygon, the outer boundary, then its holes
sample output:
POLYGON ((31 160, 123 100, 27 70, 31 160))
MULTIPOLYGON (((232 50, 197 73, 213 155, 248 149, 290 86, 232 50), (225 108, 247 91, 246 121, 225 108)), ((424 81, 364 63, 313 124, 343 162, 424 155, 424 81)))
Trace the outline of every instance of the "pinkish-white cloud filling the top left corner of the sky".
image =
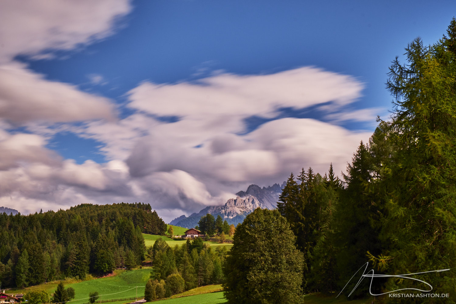
POLYGON ((16 55, 72 50, 114 33, 130 12, 129 0, 2 0, 0 63, 16 55))

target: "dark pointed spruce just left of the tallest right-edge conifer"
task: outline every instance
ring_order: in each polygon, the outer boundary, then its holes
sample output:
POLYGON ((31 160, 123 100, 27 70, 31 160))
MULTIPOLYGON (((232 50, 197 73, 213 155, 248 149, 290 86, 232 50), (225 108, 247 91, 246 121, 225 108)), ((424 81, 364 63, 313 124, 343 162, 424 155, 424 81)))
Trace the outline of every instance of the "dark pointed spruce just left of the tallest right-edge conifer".
MULTIPOLYGON (((340 248, 337 264, 340 269, 339 288, 342 289, 358 269, 368 262, 368 252, 379 254, 381 244, 379 234, 379 206, 373 191, 372 158, 363 142, 353 155, 352 163, 343 175, 347 187, 340 191, 336 218, 337 231, 334 244, 340 248)), ((381 286, 381 279, 376 279, 371 288, 374 292, 381 286), (376 289, 377 288, 377 289, 376 289)), ((350 281, 347 290, 352 290, 357 282, 350 281)), ((352 297, 368 294, 369 286, 358 286, 352 297)))

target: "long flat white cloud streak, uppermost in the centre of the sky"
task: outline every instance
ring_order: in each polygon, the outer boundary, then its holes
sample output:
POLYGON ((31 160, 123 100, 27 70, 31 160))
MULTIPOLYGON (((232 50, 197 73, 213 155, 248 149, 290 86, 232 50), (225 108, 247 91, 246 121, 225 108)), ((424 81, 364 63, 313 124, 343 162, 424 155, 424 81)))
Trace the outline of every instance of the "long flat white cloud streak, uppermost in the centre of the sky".
POLYGON ((269 117, 280 107, 305 108, 325 102, 345 105, 359 98, 362 88, 353 77, 301 67, 268 75, 224 73, 197 83, 144 82, 129 93, 131 108, 157 115, 269 117))

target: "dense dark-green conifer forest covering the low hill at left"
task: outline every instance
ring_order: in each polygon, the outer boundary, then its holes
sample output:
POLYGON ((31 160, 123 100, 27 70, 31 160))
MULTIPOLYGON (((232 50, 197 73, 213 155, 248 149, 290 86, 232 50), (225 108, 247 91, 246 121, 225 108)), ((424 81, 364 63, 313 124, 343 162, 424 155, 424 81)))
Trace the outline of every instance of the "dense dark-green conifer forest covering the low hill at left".
POLYGON ((163 234, 166 224, 149 204, 83 204, 27 216, 0 214, 2 287, 85 278, 138 265, 142 233, 163 234))

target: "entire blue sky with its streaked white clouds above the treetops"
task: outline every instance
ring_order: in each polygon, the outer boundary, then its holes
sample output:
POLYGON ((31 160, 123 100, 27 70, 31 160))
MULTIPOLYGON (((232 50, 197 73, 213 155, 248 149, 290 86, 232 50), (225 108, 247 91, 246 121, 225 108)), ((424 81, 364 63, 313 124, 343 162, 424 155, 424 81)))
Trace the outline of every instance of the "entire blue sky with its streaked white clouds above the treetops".
POLYGON ((0 164, 0 204, 145 201, 169 220, 301 166, 344 170, 388 118, 390 62, 417 36, 440 39, 456 12, 454 1, 29 2, 0 11, 0 149, 14 155, 0 164))

